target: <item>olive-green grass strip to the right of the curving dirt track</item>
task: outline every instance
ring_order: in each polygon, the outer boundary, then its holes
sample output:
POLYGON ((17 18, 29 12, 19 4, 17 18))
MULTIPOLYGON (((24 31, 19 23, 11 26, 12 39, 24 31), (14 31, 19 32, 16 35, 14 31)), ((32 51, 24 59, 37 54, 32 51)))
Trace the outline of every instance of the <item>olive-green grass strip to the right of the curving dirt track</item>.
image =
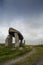
POLYGON ((43 60, 43 46, 40 45, 34 46, 36 49, 36 53, 30 55, 30 57, 27 57, 21 62, 17 62, 14 65, 37 65, 38 62, 43 60))

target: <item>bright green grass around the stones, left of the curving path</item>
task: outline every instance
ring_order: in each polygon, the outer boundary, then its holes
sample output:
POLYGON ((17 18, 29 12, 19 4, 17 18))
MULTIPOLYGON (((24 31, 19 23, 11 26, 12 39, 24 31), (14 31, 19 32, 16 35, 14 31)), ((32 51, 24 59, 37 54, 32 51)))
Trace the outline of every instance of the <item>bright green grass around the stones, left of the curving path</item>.
POLYGON ((21 50, 19 48, 12 50, 11 48, 6 48, 5 46, 0 46, 0 63, 6 61, 8 59, 15 58, 17 56, 21 56, 31 50, 32 50, 32 48, 30 48, 30 46, 23 46, 21 50))

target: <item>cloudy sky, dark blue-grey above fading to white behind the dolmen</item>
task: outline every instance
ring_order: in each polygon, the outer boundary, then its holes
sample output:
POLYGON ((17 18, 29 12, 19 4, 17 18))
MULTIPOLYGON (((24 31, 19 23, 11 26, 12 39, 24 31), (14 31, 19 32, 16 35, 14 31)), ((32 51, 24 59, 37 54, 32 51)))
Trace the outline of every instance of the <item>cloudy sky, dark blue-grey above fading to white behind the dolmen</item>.
POLYGON ((43 40, 43 0, 0 0, 0 43, 9 27, 19 30, 27 44, 43 40))

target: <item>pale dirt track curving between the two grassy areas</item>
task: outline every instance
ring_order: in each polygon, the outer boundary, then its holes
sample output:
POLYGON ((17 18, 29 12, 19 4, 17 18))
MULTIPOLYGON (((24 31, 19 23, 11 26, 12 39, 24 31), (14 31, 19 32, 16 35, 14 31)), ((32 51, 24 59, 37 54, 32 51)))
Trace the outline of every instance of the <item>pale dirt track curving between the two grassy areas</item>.
POLYGON ((33 54, 35 52, 36 52, 36 50, 35 50, 35 48, 33 48, 32 51, 30 51, 30 52, 28 52, 28 53, 26 53, 26 54, 24 54, 16 59, 11 59, 11 60, 8 60, 4 63, 1 63, 0 65, 12 65, 16 62, 23 61, 26 57, 30 56, 31 54, 33 54))

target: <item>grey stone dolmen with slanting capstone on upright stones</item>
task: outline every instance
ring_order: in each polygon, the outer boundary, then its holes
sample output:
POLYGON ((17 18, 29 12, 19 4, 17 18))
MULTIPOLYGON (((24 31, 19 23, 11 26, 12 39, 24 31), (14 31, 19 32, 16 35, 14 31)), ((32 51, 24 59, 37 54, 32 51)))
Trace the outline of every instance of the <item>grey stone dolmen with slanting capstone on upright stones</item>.
POLYGON ((23 35, 16 29, 9 28, 9 35, 6 38, 5 45, 6 46, 11 46, 12 45, 12 38, 15 38, 15 47, 22 46, 22 40, 23 40, 23 35), (19 40, 21 41, 19 43, 19 40))

